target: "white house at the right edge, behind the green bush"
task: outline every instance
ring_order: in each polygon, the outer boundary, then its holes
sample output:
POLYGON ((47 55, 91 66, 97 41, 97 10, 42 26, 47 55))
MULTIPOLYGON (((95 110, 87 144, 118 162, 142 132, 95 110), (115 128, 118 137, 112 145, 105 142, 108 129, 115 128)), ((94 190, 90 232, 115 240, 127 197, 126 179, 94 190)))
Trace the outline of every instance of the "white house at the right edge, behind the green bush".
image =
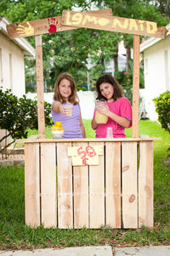
POLYGON ((167 30, 165 39, 150 37, 140 44, 144 59, 144 89, 140 92, 150 120, 157 120, 153 99, 170 90, 170 24, 167 30))

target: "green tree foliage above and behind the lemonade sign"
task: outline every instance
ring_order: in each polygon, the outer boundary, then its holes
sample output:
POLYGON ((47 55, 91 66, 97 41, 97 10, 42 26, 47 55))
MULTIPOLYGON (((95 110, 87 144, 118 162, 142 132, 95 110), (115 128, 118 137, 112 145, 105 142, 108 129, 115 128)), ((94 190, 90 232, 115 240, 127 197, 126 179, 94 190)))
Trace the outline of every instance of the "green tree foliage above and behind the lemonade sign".
MULTIPOLYGON (((1 14, 11 23, 28 20, 38 20, 53 16, 60 16, 63 9, 89 11, 92 9, 111 8, 114 16, 139 20, 156 21, 158 26, 166 26, 169 22, 169 0, 1 0, 1 14)), ((34 37, 27 40, 35 46, 34 37)), ((118 43, 123 40, 129 53, 133 48, 133 35, 109 31, 77 29, 73 31, 59 31, 42 35, 43 45, 43 75, 48 88, 54 87, 59 73, 68 71, 75 78, 77 86, 87 83, 87 60, 90 55, 94 68, 90 70, 90 81, 94 82, 102 71, 105 71, 104 60, 117 61, 118 43), (103 67, 102 67, 103 66, 103 67)), ((127 54, 128 56, 128 54, 127 54)), ((129 57, 127 58, 128 63, 129 57)), ((35 60, 26 60, 26 84, 35 82, 35 60), (32 71, 34 71, 32 73, 32 71)), ((129 68, 129 66, 128 66, 129 68)))

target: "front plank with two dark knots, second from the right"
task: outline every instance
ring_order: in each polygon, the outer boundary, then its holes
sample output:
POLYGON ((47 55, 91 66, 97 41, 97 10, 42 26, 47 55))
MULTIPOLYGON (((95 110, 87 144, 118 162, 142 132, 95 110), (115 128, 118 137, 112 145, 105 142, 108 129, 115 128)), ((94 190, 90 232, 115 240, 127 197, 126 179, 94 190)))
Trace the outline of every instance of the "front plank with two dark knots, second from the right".
POLYGON ((138 228, 136 142, 122 142, 122 225, 138 228))

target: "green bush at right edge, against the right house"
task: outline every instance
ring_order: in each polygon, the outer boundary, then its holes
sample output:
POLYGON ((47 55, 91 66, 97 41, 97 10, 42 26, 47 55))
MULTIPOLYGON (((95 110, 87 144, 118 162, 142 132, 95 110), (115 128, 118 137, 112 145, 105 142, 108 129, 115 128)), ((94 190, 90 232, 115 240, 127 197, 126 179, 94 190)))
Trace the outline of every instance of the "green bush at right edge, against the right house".
POLYGON ((161 127, 170 134, 170 91, 160 94, 154 100, 161 127))

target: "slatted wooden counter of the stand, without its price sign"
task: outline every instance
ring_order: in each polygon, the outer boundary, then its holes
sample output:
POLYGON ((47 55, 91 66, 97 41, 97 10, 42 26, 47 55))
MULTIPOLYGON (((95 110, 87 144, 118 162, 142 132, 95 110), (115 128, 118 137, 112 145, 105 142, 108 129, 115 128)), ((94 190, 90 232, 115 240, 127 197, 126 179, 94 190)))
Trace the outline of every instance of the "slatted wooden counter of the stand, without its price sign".
POLYGON ((26 225, 153 227, 154 140, 158 139, 28 140, 26 225), (88 145, 104 147, 99 165, 72 166, 68 147, 88 145))

